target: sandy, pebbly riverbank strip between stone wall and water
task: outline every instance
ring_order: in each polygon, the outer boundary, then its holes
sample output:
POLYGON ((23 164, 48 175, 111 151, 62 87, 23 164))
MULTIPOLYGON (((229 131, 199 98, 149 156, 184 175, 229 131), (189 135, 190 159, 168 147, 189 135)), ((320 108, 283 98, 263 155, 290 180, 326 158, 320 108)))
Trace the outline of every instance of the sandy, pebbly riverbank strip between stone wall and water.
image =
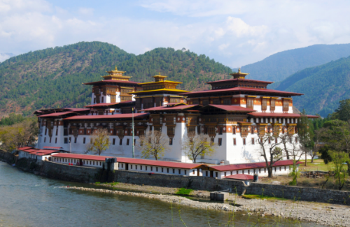
MULTIPOLYGON (((130 184, 130 186, 131 185, 132 184, 130 184)), ((120 186, 122 185, 118 185, 118 187, 120 186)), ((256 214, 262 218, 266 216, 276 216, 281 217, 281 219, 291 218, 303 221, 313 221, 328 226, 350 226, 350 207, 346 205, 330 205, 325 203, 310 203, 292 200, 246 199, 237 196, 237 194, 230 194, 228 203, 205 203, 190 200, 181 196, 164 195, 161 193, 137 193, 75 186, 66 189, 158 199, 167 203, 172 203, 173 205, 186 205, 199 209, 222 210, 225 212, 241 211, 245 212, 246 215, 256 214)), ((202 191, 204 197, 207 197, 207 193, 209 192, 202 191)))

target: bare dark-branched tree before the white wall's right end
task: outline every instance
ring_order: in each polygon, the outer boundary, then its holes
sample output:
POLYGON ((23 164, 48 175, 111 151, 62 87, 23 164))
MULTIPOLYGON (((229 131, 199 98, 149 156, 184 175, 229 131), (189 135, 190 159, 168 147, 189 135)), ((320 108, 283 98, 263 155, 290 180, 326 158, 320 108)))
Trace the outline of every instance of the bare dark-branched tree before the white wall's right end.
POLYGON ((258 145, 260 145, 260 155, 264 157, 268 177, 272 177, 272 166, 276 161, 283 159, 283 149, 278 147, 281 141, 275 140, 276 137, 271 136, 271 133, 265 133, 264 136, 257 139, 258 145))

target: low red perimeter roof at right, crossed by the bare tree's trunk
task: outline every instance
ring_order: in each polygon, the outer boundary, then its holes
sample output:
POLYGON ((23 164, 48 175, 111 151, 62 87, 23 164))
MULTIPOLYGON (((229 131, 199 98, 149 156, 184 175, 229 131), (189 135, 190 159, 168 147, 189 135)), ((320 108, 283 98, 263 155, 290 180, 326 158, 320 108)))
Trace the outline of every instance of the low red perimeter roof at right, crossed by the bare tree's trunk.
MULTIPOLYGON (((302 163, 298 161, 297 164, 302 163)), ((273 166, 290 166, 293 165, 293 160, 281 160, 276 161, 273 166)), ((232 164, 232 165, 221 165, 221 166, 209 166, 218 171, 230 171, 230 170, 246 170, 253 168, 266 168, 265 162, 255 162, 255 163, 244 163, 244 164, 232 164)))

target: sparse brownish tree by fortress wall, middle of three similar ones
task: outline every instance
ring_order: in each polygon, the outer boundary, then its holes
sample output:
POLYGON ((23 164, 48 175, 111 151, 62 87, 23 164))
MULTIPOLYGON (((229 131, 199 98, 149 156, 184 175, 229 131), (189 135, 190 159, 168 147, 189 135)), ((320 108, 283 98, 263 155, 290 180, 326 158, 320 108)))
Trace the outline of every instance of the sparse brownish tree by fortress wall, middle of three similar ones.
POLYGON ((150 131, 145 136, 140 136, 140 144, 137 147, 141 150, 142 158, 148 159, 153 156, 158 160, 169 149, 169 138, 160 131, 150 131))

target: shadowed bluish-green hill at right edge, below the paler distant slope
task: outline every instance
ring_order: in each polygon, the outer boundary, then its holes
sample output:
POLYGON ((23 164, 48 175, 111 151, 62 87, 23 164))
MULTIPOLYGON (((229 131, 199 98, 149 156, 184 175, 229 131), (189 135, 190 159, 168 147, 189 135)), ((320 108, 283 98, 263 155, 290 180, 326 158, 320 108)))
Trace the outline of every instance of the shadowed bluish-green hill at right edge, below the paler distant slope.
POLYGON ((327 117, 337 109, 340 100, 350 98, 350 57, 305 68, 290 75, 275 89, 304 94, 293 98, 294 105, 308 114, 327 117))

